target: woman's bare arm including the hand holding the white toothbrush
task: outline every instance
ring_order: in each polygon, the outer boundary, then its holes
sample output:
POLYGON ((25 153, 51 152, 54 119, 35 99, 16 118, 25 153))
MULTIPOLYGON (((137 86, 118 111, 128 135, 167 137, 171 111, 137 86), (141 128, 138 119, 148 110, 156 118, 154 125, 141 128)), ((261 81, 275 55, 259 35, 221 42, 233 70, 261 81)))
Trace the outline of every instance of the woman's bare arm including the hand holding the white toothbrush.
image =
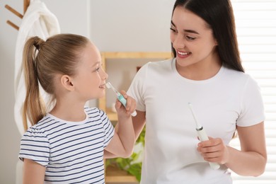
POLYGON ((260 176, 265 171, 267 152, 264 123, 250 127, 237 127, 241 151, 224 145, 220 138, 198 144, 206 161, 225 164, 241 176, 260 176))

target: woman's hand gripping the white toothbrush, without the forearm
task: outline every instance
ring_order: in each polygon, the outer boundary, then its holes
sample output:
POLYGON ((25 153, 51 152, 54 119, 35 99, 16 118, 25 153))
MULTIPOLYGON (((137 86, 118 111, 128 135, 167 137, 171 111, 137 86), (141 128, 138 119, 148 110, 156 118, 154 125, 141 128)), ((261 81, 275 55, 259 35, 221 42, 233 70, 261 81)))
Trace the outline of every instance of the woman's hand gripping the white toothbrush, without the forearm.
POLYGON ((229 160, 228 147, 220 138, 209 137, 208 141, 200 142, 197 144, 197 151, 205 161, 224 164, 229 160))

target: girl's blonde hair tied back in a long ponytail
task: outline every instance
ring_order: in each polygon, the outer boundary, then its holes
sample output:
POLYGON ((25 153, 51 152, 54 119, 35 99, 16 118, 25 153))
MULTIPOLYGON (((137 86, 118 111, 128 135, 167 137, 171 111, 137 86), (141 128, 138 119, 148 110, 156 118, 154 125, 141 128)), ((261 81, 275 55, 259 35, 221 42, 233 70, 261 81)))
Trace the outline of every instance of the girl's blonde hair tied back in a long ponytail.
POLYGON ((27 40, 23 50, 23 71, 25 74, 26 96, 23 104, 23 126, 28 129, 27 120, 35 125, 47 113, 40 95, 40 85, 50 94, 54 103, 56 74, 74 76, 80 61, 81 51, 89 40, 81 35, 59 34, 46 41, 38 37, 27 40))

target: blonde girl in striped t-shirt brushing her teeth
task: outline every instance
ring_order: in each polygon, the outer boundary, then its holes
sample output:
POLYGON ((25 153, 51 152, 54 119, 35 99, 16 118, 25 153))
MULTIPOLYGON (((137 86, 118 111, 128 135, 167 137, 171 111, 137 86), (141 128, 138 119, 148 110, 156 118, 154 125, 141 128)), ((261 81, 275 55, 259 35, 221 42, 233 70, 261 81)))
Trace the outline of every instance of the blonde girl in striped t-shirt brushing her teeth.
POLYGON ((122 157, 132 154, 130 114, 136 103, 122 91, 127 108, 116 102, 116 130, 102 110, 84 108, 86 101, 104 96, 108 79, 96 46, 81 35, 30 38, 23 69, 24 122, 27 127, 28 118, 33 125, 21 139, 23 183, 105 183, 104 151, 122 157), (50 110, 40 98, 40 85, 51 96, 50 110))

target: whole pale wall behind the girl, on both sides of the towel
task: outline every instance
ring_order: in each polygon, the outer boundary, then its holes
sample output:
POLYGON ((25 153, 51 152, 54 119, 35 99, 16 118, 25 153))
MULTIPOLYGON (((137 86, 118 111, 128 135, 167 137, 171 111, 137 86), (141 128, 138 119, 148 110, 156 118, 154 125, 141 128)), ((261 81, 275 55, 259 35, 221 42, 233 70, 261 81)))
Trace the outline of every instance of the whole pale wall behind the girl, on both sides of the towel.
MULTIPOLYGON (((100 51, 169 52, 172 0, 42 0, 54 13, 62 33, 87 36, 100 51)), ((13 118, 14 55, 18 31, 7 20, 21 19, 23 0, 0 1, 0 183, 15 183, 21 135, 13 118)), ((96 101, 92 101, 96 105, 96 101)))

